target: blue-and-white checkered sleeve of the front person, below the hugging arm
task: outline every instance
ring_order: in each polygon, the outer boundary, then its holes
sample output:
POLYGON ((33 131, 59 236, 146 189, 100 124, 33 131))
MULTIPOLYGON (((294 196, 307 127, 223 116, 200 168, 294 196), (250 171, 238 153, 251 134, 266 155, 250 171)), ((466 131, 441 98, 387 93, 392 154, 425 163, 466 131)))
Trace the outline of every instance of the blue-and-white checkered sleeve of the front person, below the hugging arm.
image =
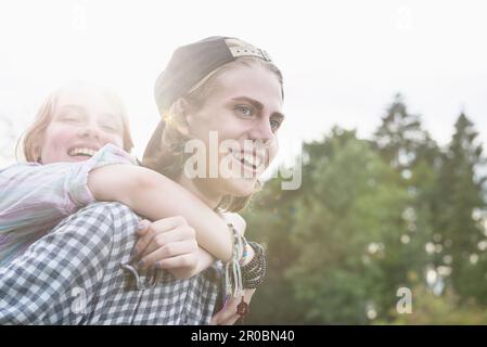
POLYGON ((95 308, 104 306, 98 293, 107 285, 105 271, 119 265, 111 257, 114 252, 129 256, 137 224, 137 215, 117 203, 92 204, 66 218, 0 268, 0 324, 88 323, 95 308), (120 231, 131 242, 113 249, 115 242, 125 244, 120 231))

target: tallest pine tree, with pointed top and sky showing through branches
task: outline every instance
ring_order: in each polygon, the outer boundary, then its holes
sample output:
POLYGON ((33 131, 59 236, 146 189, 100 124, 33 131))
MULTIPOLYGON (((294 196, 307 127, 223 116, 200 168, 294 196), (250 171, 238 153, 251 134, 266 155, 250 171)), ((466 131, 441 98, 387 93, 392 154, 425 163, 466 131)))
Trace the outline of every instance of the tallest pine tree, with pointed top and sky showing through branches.
POLYGON ((399 184, 410 195, 397 228, 407 224, 402 240, 408 244, 409 271, 418 277, 426 267, 436 267, 440 257, 425 252, 425 245, 434 243, 435 218, 441 198, 436 183, 441 163, 439 147, 423 129, 420 116, 408 111, 400 94, 396 94, 387 108, 373 143, 384 160, 400 175, 399 184))

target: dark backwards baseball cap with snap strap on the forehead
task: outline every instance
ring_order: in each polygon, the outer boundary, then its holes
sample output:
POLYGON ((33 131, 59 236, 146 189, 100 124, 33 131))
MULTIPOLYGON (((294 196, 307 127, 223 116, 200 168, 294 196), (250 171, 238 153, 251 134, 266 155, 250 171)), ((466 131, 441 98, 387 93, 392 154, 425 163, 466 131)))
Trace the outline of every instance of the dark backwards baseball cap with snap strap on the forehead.
POLYGON ((213 36, 178 48, 157 77, 154 87, 155 101, 159 114, 167 111, 180 97, 184 95, 201 79, 216 68, 239 56, 256 56, 270 62, 269 54, 251 44, 228 47, 230 37, 213 36))

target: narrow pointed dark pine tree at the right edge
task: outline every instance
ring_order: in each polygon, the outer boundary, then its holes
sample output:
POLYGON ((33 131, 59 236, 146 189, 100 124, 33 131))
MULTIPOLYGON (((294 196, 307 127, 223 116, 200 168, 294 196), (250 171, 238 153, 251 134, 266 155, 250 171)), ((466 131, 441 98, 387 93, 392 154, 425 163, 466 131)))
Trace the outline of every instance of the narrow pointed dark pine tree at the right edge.
POLYGON ((485 164, 478 132, 462 113, 454 134, 444 156, 439 185, 443 195, 438 230, 443 246, 452 268, 451 284, 463 299, 476 298, 487 303, 487 254, 478 244, 486 239, 477 215, 485 209, 480 175, 485 164))

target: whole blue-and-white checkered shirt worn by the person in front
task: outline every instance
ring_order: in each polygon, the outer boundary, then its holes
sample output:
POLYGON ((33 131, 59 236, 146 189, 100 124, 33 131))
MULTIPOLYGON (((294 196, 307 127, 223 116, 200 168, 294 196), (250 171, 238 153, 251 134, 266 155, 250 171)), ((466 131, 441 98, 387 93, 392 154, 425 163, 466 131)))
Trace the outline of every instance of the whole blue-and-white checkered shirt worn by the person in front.
POLYGON ((188 280, 163 270, 153 287, 139 290, 124 266, 138 223, 118 203, 91 204, 63 220, 0 268, 0 324, 209 323, 221 262, 188 280))

